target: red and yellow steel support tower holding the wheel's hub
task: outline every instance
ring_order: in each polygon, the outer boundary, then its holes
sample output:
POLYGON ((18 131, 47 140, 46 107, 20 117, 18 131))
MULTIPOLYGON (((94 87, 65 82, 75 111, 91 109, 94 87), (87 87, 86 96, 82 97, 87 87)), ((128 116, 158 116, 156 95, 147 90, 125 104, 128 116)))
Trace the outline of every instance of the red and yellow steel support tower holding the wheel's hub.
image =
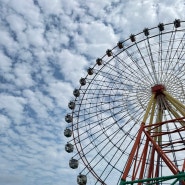
POLYGON ((137 138, 135 140, 132 151, 128 158, 120 185, 124 184, 141 185, 144 182, 147 184, 159 184, 159 182, 168 181, 172 179, 174 181, 170 182, 171 185, 175 184, 177 181, 179 181, 181 185, 185 185, 185 173, 184 173, 185 160, 184 164, 182 165, 182 169, 178 169, 178 166, 174 164, 174 162, 172 162, 168 157, 168 153, 184 150, 184 148, 178 148, 178 150, 173 149, 174 148, 173 145, 183 143, 184 141, 178 140, 168 143, 162 142, 162 136, 168 134, 172 135, 175 133, 183 133, 185 131, 185 106, 180 101, 173 98, 167 91, 165 91, 165 87, 161 84, 152 87, 152 92, 153 92, 152 97, 148 103, 148 107, 146 109, 143 122, 141 123, 141 127, 138 131, 137 138), (159 96, 163 98, 163 104, 160 104, 160 106, 159 105, 156 106, 156 102, 159 96), (170 102, 171 104, 169 105, 168 102, 170 102), (153 123, 154 110, 156 107, 158 109, 157 120, 159 122, 153 123), (166 109, 168 109, 168 111, 170 111, 172 115, 174 115, 175 119, 162 121, 163 111, 166 109), (149 118, 148 124, 146 124, 147 118, 149 118), (176 124, 177 122, 179 123, 179 126, 175 130, 162 131, 162 127, 164 125, 170 126, 170 124, 176 124), (146 140, 144 147, 140 148, 142 135, 145 135, 146 140), (150 154, 148 154, 149 144, 150 146, 152 146, 150 154), (165 149, 166 146, 171 147, 171 149, 166 150, 165 149), (142 150, 142 152, 139 152, 140 150, 142 150), (141 156, 138 156, 139 153, 141 153, 141 156), (147 155, 149 155, 148 158, 150 158, 149 165, 146 165, 147 155), (157 159, 156 164, 154 164, 155 158, 157 159), (163 162, 166 164, 166 166, 168 166, 173 175, 161 177, 159 176, 160 160, 163 160, 163 162), (126 181, 131 166, 133 166, 132 180, 126 181), (148 175, 146 179, 143 179, 143 174, 145 170, 148 170, 148 175), (138 179, 136 179, 137 176, 139 177, 138 179))

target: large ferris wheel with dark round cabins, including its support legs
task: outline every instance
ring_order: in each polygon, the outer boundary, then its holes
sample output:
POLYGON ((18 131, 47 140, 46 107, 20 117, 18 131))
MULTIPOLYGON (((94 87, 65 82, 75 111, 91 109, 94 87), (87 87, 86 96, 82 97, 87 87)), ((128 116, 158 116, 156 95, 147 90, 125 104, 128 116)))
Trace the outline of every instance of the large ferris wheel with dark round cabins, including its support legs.
POLYGON ((64 135, 79 185, 185 185, 185 21, 118 42, 73 95, 64 135))

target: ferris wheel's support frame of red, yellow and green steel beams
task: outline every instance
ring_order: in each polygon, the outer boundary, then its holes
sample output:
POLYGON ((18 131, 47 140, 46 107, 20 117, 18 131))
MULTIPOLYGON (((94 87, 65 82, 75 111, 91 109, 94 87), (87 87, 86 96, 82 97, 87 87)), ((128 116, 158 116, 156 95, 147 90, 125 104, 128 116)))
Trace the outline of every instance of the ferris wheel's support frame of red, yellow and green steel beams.
MULTIPOLYGON (((182 166, 182 171, 178 169, 178 167, 168 158, 166 155, 167 152, 170 151, 163 151, 161 144, 162 135, 166 135, 169 132, 162 132, 161 128, 164 124, 170 124, 175 121, 179 121, 179 123, 182 125, 182 128, 171 131, 170 133, 176 133, 176 132, 182 132, 185 131, 184 128, 184 119, 185 119, 185 106, 175 99, 173 96, 171 96, 165 89, 165 87, 161 84, 155 85, 152 87, 152 96, 150 98, 150 101, 148 103, 143 121, 141 123, 140 129, 138 131, 135 143, 132 147, 131 153, 129 155, 125 170, 123 172, 120 185, 125 184, 135 184, 138 183, 138 185, 141 185, 142 182, 152 182, 149 184, 153 184, 153 182, 159 182, 159 181, 167 181, 170 179, 175 179, 175 181, 171 184, 175 184, 177 181, 180 181, 182 185, 185 185, 185 159, 182 166), (183 116, 180 116, 175 110, 170 109, 171 113, 175 116, 176 119, 168 120, 168 121, 162 121, 162 113, 163 110, 161 108, 158 109, 158 118, 157 123, 153 122, 154 117, 154 109, 156 106, 156 99, 158 95, 164 95, 165 98, 180 112, 180 114, 183 116), (151 112, 151 113, 150 113, 151 112), (150 115, 149 115, 150 113, 150 115), (150 122, 148 125, 146 125, 146 120, 150 116, 150 122), (146 136, 146 141, 144 144, 143 151, 141 153, 141 157, 138 157, 139 149, 140 149, 140 142, 141 142, 141 135, 144 134, 146 136), (147 179, 143 179, 143 174, 145 170, 146 165, 146 156, 148 152, 148 146, 149 143, 152 144, 152 152, 150 156, 150 164, 149 164, 149 171, 147 179), (154 157, 155 153, 157 156, 158 164, 156 165, 154 169, 154 157), (137 160, 139 159, 139 160, 137 160), (171 170, 171 172, 174 175, 171 176, 162 176, 158 177, 159 175, 159 159, 162 159, 165 164, 168 166, 168 168, 171 170), (132 181, 126 181, 126 178, 128 176, 128 173, 130 171, 131 165, 134 164, 133 171, 132 171, 132 181), (140 172, 139 172, 140 169, 140 172), (154 171, 155 170, 155 171, 154 171), (139 175, 139 179, 136 180, 136 176, 139 175)), ((176 141, 178 142, 178 141, 176 141)), ((165 145, 170 145, 171 143, 166 143, 165 145)))

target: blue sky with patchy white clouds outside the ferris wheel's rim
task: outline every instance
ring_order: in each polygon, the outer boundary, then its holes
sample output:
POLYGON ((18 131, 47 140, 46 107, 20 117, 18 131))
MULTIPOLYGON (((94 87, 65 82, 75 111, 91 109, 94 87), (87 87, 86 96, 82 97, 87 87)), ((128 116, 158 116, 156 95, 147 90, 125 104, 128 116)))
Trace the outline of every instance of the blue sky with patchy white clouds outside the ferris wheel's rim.
POLYGON ((95 59, 184 0, 0 0, 0 185, 76 184, 64 115, 95 59))

